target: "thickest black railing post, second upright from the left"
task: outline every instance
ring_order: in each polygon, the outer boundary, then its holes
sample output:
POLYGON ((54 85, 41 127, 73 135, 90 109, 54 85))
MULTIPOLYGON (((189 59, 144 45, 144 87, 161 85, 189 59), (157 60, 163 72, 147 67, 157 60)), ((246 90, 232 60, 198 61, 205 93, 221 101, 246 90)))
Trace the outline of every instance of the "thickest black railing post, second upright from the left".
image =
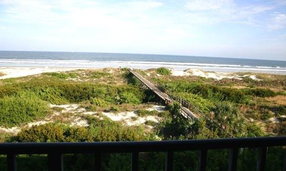
POLYGON ((60 153, 48 154, 48 170, 49 171, 63 171, 63 155, 60 153))

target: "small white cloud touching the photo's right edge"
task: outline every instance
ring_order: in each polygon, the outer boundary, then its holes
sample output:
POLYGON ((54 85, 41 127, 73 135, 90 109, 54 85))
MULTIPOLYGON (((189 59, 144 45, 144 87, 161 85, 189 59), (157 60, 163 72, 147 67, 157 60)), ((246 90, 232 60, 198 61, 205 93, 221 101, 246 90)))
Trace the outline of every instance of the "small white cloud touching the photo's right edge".
POLYGON ((270 30, 278 30, 286 28, 286 14, 274 13, 272 14, 272 22, 268 24, 267 28, 270 30))

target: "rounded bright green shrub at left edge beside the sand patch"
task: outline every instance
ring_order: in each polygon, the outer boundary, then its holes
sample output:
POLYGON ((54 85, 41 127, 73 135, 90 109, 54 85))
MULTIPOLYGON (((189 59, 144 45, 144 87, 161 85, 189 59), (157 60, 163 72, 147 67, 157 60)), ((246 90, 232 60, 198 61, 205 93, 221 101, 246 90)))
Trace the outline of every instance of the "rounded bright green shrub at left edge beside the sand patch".
POLYGON ((15 126, 45 116, 49 106, 31 92, 0 99, 0 125, 15 126))

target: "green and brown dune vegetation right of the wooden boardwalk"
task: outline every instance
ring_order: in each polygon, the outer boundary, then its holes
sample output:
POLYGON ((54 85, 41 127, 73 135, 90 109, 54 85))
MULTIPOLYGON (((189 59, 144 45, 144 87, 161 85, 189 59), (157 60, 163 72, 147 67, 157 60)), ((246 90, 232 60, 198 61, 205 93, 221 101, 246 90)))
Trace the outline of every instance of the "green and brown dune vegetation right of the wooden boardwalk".
MULTIPOLYGON (((251 126, 255 125, 255 122, 249 123, 245 118, 255 119, 263 121, 263 126, 261 123, 257 126, 266 127, 267 132, 270 134, 283 134, 285 132, 281 127, 286 123, 281 118, 281 122, 278 123, 269 121, 270 118, 279 118, 280 115, 286 115, 285 76, 279 76, 278 79, 269 79, 268 75, 266 80, 262 81, 250 81, 249 79, 214 81, 206 78, 174 76, 151 79, 163 85, 172 95, 190 102, 204 114, 213 111, 215 105, 219 102, 228 102, 238 110, 240 119, 237 123, 245 123, 244 125, 251 126), (236 86, 242 88, 236 88, 236 86), (277 89, 277 91, 273 89, 277 89)), ((244 129, 247 130, 248 128, 244 129)))

